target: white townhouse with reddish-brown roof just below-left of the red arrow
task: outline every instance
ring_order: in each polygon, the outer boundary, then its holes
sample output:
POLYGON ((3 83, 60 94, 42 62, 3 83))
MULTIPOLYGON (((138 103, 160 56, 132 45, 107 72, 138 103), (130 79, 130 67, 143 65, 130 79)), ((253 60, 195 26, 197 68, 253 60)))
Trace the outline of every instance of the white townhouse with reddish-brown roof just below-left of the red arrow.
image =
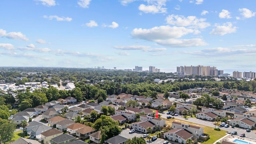
POLYGON ((148 131, 147 131, 148 127, 150 127, 152 130, 156 129, 156 125, 147 120, 134 122, 134 123, 130 124, 130 128, 137 130, 139 132, 144 132, 144 133, 148 133, 148 131))

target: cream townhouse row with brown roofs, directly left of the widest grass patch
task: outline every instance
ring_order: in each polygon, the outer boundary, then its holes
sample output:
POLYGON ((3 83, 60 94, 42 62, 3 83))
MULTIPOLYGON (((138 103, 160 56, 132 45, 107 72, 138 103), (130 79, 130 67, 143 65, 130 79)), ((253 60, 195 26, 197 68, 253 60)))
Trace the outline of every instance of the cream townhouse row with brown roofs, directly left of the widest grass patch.
POLYGON ((198 126, 172 122, 172 130, 164 133, 164 138, 185 144, 188 139, 197 140, 204 135, 204 129, 198 126))

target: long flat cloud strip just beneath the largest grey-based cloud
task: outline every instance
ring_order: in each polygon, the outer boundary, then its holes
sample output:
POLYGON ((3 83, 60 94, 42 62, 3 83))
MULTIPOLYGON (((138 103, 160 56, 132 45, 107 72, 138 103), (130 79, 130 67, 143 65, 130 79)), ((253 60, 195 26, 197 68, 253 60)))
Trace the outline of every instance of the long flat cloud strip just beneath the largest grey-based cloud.
POLYGON ((170 38, 167 40, 156 40, 157 44, 163 46, 169 46, 172 48, 179 47, 192 47, 192 46, 206 46, 207 43, 204 42, 201 38, 193 38, 193 39, 174 39, 170 38))

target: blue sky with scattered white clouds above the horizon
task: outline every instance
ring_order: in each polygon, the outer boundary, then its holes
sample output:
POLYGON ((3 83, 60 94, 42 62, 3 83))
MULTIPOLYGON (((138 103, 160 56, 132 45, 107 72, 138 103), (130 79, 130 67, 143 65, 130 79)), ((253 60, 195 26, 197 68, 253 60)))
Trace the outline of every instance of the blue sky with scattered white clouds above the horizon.
POLYGON ((256 71, 256 0, 1 0, 0 66, 256 71))

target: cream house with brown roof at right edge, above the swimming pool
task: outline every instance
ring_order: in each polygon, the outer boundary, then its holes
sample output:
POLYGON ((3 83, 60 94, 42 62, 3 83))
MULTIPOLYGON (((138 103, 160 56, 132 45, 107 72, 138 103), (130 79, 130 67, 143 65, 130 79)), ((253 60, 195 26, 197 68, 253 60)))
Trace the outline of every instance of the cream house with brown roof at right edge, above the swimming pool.
POLYGON ((252 120, 249 120, 248 118, 235 118, 233 120, 230 120, 230 125, 238 125, 240 128, 249 128, 253 129, 255 126, 255 122, 252 120))

